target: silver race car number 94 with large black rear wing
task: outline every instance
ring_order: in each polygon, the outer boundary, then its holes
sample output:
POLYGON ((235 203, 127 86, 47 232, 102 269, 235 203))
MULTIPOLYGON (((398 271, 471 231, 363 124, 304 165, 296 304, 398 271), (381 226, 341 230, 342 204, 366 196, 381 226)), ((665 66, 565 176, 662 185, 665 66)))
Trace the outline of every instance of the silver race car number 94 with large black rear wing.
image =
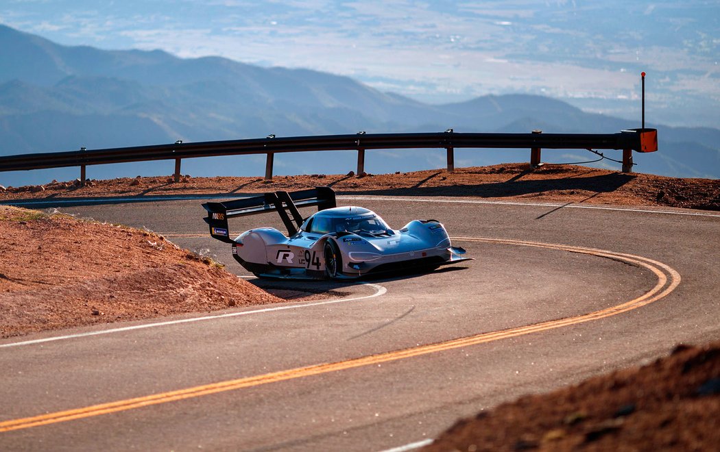
POLYGON ((329 187, 277 191, 202 206, 210 235, 231 244, 235 260, 257 277, 357 278, 472 260, 464 257, 464 249, 451 246, 442 223, 415 220, 402 229, 390 229, 366 208, 337 207, 335 192, 329 187), (318 212, 302 218, 298 208, 309 206, 318 206, 318 212), (229 218, 271 211, 279 213, 287 235, 274 228, 256 228, 230 238, 229 218))

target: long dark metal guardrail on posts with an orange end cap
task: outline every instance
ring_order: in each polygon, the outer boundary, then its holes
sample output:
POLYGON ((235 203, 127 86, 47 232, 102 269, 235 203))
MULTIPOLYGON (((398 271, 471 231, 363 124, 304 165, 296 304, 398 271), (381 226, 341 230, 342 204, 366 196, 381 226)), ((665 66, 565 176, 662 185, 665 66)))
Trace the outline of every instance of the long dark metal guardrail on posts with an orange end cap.
POLYGON ((272 179, 274 154, 279 152, 357 151, 357 174, 364 172, 367 149, 446 149, 447 169, 453 171, 456 148, 531 149, 530 163, 540 164, 541 149, 622 149, 623 172, 632 171, 632 151, 657 150, 657 129, 628 129, 616 134, 485 134, 446 132, 413 134, 319 135, 312 137, 275 137, 229 141, 157 144, 153 146, 85 149, 70 152, 46 152, 0 157, 0 172, 46 168, 81 168, 85 184, 87 165, 175 160, 175 180, 180 177, 182 159, 223 155, 266 154, 265 178, 272 179))

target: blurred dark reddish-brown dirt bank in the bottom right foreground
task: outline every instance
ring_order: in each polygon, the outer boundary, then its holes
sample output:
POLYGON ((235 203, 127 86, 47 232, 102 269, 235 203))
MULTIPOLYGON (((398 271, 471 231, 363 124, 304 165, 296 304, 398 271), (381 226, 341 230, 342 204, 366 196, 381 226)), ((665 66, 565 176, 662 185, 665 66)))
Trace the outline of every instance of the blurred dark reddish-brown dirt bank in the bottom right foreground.
POLYGON ((720 343, 521 397, 460 420, 425 451, 717 451, 720 343))

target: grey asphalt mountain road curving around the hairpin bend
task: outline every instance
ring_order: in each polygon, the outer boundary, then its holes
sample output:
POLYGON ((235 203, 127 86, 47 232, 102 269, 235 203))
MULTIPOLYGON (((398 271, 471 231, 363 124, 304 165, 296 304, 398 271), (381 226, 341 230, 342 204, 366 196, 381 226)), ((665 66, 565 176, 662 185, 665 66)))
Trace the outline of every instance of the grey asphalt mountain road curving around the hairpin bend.
MULTIPOLYGON (((0 449, 409 449, 500 402, 643 364, 676 343, 720 339, 717 213, 468 198, 338 203, 371 208, 396 228, 436 218, 477 260, 323 283, 346 295, 322 303, 0 341, 0 449)), ((199 204, 61 210, 152 229, 243 275, 230 247, 207 236, 199 204)), ((231 227, 268 224, 282 225, 267 215, 231 227)))

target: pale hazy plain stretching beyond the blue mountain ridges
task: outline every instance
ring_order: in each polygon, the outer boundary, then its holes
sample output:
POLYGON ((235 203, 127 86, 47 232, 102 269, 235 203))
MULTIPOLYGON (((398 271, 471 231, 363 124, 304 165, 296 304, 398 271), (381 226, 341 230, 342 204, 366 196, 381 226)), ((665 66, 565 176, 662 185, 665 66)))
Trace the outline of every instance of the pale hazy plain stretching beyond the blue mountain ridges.
POLYGON ((720 0, 0 0, 0 23, 63 45, 161 49, 348 75, 447 103, 535 93, 720 126, 720 0))

